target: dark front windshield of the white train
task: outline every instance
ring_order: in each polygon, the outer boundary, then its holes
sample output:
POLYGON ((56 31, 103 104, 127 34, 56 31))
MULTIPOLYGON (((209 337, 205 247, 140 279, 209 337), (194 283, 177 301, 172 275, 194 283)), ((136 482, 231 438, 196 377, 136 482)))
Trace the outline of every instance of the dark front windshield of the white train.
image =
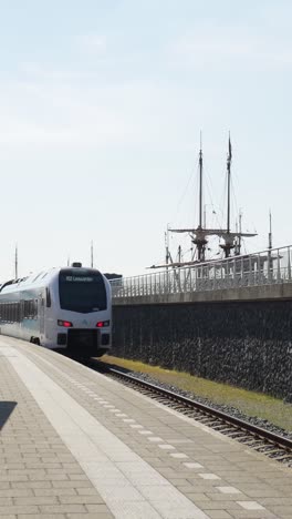
POLYGON ((86 314, 106 308, 104 279, 98 272, 61 271, 59 295, 62 309, 86 314))

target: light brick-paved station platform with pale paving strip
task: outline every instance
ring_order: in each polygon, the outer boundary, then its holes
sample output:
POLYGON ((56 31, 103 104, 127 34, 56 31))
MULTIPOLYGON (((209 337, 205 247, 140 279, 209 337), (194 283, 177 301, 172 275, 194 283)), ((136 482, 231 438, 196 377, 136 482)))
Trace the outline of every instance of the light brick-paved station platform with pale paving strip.
POLYGON ((0 519, 292 518, 292 469, 0 336, 0 519))

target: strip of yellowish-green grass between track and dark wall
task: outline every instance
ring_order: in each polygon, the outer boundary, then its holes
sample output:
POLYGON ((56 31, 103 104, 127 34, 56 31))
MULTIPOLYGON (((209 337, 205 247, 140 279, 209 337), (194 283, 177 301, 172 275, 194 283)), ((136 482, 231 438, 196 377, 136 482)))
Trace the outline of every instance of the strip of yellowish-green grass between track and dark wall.
POLYGON ((196 377, 184 372, 163 369, 136 360, 104 355, 102 360, 109 364, 140 372, 157 378, 161 383, 176 386, 209 400, 232 406, 248 416, 255 416, 292 432, 292 405, 262 393, 249 391, 228 384, 216 383, 196 377))

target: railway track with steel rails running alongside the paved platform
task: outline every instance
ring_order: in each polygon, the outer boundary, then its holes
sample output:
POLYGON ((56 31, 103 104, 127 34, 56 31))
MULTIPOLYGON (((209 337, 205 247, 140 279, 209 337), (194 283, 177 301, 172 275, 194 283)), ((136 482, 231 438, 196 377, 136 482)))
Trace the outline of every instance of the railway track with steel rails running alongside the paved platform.
POLYGON ((108 365, 92 359, 90 367, 102 370, 106 376, 117 378, 126 386, 154 398, 178 413, 211 427, 212 429, 240 441, 250 448, 292 467, 292 440, 270 430, 258 427, 232 415, 204 405, 195 399, 181 396, 173 390, 160 387, 125 373, 118 366, 108 365))

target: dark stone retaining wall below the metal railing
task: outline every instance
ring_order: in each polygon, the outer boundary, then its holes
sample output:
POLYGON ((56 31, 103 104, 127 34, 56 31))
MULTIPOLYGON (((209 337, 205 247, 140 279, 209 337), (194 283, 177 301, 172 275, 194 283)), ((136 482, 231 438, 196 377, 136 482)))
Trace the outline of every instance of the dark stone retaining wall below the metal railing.
POLYGON ((292 301, 114 306, 121 357, 292 400, 292 301))

